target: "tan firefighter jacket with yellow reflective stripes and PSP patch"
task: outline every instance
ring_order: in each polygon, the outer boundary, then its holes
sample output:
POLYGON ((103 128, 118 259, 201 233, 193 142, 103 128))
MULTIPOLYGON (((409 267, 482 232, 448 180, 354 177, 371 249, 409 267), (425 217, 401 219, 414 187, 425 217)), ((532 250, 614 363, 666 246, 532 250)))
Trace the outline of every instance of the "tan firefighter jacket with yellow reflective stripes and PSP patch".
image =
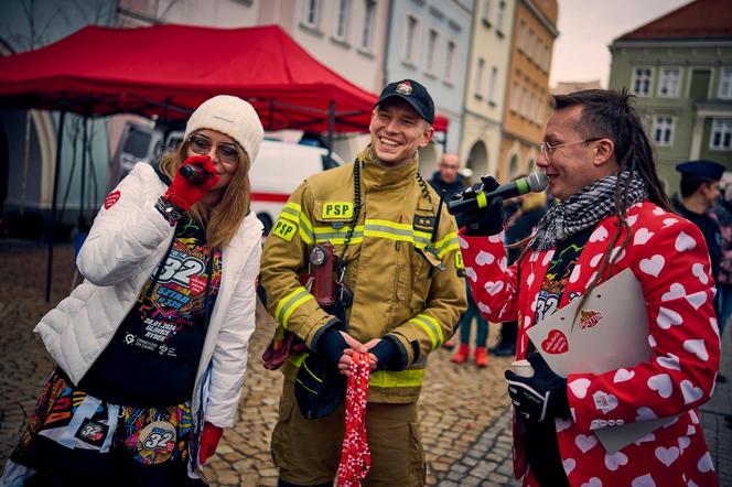
MULTIPOLYGON (((360 343, 396 338, 401 368, 374 372, 368 400, 409 403, 419 397, 428 355, 452 336, 465 309, 455 220, 443 207, 437 241, 430 241, 439 196, 418 180, 417 158, 387 169, 366 148, 357 160, 362 209, 345 255, 345 283, 354 294, 347 333, 360 343), (444 270, 430 271, 440 262, 444 270)), ((353 215, 354 164, 346 164, 303 182, 265 244, 260 283, 269 312, 310 349, 335 321, 300 284, 299 274, 306 272, 314 244, 329 241, 341 256, 353 215)), ((288 378, 294 380, 302 358, 289 358, 288 378)))

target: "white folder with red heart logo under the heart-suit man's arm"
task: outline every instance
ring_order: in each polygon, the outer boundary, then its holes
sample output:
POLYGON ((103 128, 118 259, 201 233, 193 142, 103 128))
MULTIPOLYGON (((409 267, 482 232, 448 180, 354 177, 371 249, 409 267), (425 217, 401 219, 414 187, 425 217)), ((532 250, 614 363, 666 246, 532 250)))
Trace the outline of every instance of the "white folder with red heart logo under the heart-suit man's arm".
MULTIPOLYGON (((633 367, 650 358, 646 303, 640 283, 631 269, 593 289, 577 313, 580 301, 572 301, 527 332, 557 375, 602 374, 633 367)), ((602 419, 602 413, 598 413, 602 419)), ((593 433, 609 453, 614 453, 674 419, 605 426, 593 433)))

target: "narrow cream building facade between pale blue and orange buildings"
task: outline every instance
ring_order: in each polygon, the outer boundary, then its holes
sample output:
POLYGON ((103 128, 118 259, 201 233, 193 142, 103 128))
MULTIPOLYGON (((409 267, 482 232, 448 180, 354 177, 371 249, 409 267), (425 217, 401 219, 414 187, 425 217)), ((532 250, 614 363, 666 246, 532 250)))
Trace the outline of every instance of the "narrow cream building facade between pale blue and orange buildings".
POLYGON ((498 171, 515 10, 516 0, 475 2, 459 152, 475 176, 498 171))

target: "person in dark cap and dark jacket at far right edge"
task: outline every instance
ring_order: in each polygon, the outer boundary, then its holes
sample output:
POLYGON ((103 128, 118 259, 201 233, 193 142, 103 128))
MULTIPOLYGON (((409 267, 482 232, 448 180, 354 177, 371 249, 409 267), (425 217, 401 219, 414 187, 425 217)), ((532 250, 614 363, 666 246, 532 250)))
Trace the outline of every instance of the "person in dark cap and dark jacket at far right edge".
MULTIPOLYGON (((719 181, 724 173, 724 166, 713 161, 689 161, 678 164, 676 170, 681 173, 681 199, 674 202, 674 208, 698 226, 704 236, 712 262, 712 277, 714 282, 718 282, 722 262, 722 231, 710 210, 721 195, 719 181)), ((718 317, 721 317, 720 305, 721 293, 718 292, 714 299, 718 317)), ((720 329, 723 326, 720 325, 720 329)))

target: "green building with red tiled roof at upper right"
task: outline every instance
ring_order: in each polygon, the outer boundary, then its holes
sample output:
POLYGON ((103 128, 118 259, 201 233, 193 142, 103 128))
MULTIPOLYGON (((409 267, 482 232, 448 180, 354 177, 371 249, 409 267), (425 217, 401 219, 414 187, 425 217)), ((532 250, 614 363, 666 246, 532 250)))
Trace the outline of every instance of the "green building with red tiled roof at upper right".
POLYGON ((679 162, 732 171, 732 2, 696 0, 617 37, 610 52, 609 86, 637 96, 669 194, 679 162))

